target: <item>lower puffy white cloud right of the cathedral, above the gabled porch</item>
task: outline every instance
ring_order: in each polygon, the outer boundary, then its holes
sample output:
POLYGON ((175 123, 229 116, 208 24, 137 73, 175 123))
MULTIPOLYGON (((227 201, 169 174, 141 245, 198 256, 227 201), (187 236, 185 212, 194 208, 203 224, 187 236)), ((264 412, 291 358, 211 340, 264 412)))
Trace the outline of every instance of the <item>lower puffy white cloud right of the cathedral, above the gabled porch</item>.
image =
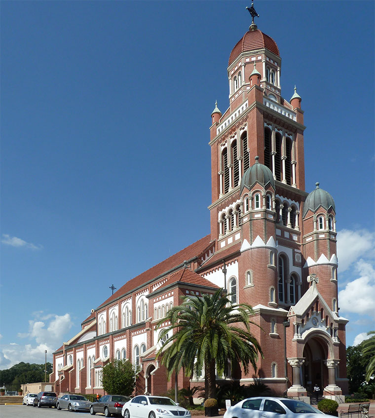
POLYGON ((375 317, 374 266, 361 259, 355 264, 355 271, 360 277, 347 283, 338 293, 341 312, 355 312, 375 317))

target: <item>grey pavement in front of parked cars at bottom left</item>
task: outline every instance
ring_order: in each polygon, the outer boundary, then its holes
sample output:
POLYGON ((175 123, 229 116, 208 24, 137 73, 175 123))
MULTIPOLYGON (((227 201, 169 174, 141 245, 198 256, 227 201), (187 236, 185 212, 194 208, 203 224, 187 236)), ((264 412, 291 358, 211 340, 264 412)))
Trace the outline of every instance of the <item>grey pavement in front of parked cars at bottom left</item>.
MULTIPOLYGON (((56 408, 34 408, 26 405, 0 405, 1 418, 64 418, 64 417, 91 417, 89 412, 58 411, 56 408)), ((96 414, 95 417, 104 417, 96 414)))

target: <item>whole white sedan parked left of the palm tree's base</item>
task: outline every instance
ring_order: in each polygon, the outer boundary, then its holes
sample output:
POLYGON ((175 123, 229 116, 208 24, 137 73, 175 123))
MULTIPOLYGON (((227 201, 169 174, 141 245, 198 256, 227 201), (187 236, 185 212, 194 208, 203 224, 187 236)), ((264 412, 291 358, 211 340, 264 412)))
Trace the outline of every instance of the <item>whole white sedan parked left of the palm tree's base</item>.
POLYGON ((135 396, 122 407, 124 418, 191 418, 190 411, 163 396, 135 396))

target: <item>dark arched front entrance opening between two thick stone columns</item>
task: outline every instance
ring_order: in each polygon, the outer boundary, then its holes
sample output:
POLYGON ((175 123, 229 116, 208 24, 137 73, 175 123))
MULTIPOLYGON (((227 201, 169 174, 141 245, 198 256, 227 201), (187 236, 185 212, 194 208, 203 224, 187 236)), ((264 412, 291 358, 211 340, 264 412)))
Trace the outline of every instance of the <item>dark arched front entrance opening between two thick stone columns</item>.
POLYGON ((328 369, 325 363, 328 358, 327 342, 319 337, 309 339, 303 348, 303 357, 302 386, 312 392, 317 383, 323 393, 323 388, 328 385, 328 369))

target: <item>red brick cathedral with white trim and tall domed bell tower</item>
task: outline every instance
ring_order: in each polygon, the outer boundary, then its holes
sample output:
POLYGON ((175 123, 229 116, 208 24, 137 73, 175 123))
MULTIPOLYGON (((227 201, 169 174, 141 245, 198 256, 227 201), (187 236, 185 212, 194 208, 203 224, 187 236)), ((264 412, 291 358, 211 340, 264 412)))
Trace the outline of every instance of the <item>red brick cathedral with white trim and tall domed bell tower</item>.
MULTIPOLYGON (((296 88, 282 97, 279 48, 249 11, 249 31, 229 55, 229 107, 211 114, 211 233, 92 310, 53 353, 56 392, 103 394, 102 368, 126 358, 141 366, 137 394, 165 394, 176 378, 155 357, 156 324, 183 295, 224 288, 233 303, 253 306, 264 358, 257 373, 229 367, 219 384, 261 380, 275 395, 306 400, 315 383, 328 398, 347 393, 335 202, 318 183, 305 191, 301 97, 296 88)), ((177 383, 204 386, 204 376, 181 372, 177 383)))

